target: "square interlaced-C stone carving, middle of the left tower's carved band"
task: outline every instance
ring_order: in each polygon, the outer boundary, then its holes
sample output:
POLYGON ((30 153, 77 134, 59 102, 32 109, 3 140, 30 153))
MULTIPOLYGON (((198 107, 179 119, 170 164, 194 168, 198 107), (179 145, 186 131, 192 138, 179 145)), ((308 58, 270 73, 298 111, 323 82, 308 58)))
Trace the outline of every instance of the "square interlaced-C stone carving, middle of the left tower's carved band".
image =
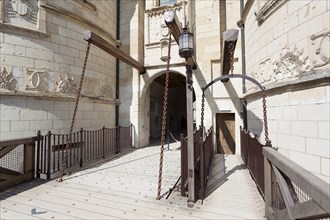
POLYGON ((44 92, 48 90, 48 72, 45 70, 26 69, 25 90, 44 92))

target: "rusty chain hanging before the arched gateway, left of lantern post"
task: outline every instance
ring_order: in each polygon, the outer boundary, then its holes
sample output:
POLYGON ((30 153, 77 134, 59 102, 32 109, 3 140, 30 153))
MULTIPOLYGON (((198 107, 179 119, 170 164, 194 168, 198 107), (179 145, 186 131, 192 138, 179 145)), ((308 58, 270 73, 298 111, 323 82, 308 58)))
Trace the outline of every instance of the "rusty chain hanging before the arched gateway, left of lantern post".
POLYGON ((164 157, 164 144, 165 144, 165 132, 166 132, 166 116, 167 116, 167 98, 168 98, 168 83, 170 78, 170 60, 171 60, 171 29, 169 29, 169 45, 167 54, 167 66, 166 66, 166 80, 165 80, 165 92, 164 92, 164 107, 163 107, 163 121, 162 121, 162 137, 160 147, 160 159, 159 159, 159 176, 158 176, 158 191, 157 199, 160 200, 162 196, 162 173, 163 173, 163 157, 164 157))

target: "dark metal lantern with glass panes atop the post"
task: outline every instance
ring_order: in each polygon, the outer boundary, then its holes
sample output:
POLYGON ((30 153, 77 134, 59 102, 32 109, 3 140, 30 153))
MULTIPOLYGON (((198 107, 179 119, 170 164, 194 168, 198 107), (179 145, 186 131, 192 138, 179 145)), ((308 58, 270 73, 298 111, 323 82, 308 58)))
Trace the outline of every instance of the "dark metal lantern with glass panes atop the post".
POLYGON ((194 35, 183 28, 179 37, 179 55, 182 58, 191 57, 194 54, 194 35))

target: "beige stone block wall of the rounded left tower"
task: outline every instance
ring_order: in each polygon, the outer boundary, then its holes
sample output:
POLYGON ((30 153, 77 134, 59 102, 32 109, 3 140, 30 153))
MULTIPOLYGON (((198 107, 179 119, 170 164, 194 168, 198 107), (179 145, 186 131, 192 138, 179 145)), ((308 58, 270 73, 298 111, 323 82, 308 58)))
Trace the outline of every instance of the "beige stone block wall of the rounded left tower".
MULTIPOLYGON (((115 43, 116 2, 3 0, 0 6, 1 139, 39 129, 67 132, 86 54, 83 32, 115 43)), ((76 128, 114 126, 115 58, 93 45, 82 97, 76 128)))

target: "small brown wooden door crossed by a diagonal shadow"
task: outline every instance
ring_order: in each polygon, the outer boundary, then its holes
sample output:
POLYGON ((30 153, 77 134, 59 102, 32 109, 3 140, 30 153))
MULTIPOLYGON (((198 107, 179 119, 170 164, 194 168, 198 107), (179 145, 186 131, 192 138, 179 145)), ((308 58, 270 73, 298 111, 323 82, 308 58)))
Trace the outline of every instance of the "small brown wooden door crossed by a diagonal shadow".
POLYGON ((235 154, 235 114, 216 114, 217 152, 235 154))

